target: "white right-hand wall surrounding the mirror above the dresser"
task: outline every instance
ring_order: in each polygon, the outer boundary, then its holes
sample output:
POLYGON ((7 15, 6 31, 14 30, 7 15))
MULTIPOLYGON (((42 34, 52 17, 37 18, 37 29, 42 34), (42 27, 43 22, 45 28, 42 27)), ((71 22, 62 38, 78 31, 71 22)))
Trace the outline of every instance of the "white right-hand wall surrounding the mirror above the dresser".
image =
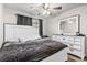
POLYGON ((47 34, 58 33, 58 19, 67 18, 70 15, 80 14, 80 33, 87 35, 87 4, 63 12, 59 15, 47 19, 47 34))

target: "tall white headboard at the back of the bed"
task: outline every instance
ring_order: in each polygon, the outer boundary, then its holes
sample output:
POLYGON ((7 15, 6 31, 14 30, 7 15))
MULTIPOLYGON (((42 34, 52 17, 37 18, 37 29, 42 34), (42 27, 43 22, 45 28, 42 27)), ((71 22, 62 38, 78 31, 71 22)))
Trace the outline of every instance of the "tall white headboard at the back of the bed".
POLYGON ((3 25, 3 42, 18 39, 31 40, 35 36, 39 36, 37 28, 15 24, 3 25))

